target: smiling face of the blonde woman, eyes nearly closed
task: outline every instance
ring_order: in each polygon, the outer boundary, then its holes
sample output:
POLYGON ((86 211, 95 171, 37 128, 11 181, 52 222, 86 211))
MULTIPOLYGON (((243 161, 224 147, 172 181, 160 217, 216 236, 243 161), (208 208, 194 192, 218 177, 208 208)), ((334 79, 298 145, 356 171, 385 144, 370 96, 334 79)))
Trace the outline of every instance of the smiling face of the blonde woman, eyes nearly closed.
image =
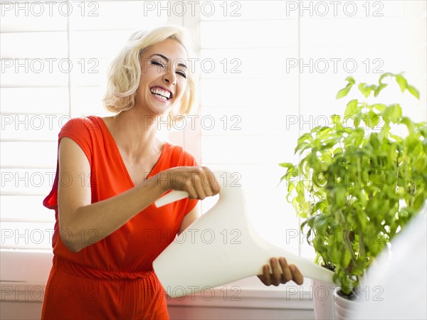
POLYGON ((179 103, 186 90, 187 54, 173 39, 149 46, 141 54, 141 80, 135 107, 150 115, 160 115, 179 103))

